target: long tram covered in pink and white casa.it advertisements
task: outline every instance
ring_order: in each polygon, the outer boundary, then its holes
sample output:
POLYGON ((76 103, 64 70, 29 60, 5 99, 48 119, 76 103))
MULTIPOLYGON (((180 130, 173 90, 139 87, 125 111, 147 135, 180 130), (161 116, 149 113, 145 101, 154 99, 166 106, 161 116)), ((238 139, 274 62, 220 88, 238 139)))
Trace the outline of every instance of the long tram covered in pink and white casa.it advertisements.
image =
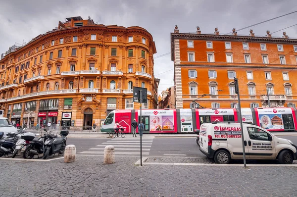
MULTIPOLYGON (((144 133, 193 133, 207 122, 243 122, 253 123, 268 131, 296 131, 297 109, 280 108, 242 108, 242 117, 238 109, 143 109, 142 121, 144 133)), ((101 125, 101 132, 113 131, 115 121, 123 126, 125 133, 132 133, 133 119, 139 123, 140 110, 119 109, 111 111, 101 125)), ((138 131, 138 130, 137 130, 138 131)))

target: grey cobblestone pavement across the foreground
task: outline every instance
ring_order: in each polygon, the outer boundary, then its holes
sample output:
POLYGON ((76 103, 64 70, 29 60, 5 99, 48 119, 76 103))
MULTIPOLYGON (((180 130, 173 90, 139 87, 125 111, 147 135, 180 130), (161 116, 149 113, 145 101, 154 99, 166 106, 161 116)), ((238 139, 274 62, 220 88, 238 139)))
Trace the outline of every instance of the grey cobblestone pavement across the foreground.
POLYGON ((2 197, 288 197, 296 167, 135 166, 135 157, 77 156, 49 162, 0 160, 2 197))

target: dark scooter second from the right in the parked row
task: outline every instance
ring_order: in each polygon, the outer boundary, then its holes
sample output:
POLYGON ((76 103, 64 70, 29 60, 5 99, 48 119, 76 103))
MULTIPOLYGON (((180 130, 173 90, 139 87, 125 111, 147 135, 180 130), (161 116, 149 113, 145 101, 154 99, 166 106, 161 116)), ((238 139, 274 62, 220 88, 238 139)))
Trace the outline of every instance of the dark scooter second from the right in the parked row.
MULTIPOLYGON (((44 129, 46 131, 46 129, 44 129)), ((39 135, 39 134, 38 134, 39 135)), ((25 140, 26 149, 23 152, 24 159, 32 159, 34 155, 37 155, 44 152, 44 142, 48 138, 49 134, 44 134, 41 137, 35 137, 34 135, 23 135, 22 139, 25 140)))

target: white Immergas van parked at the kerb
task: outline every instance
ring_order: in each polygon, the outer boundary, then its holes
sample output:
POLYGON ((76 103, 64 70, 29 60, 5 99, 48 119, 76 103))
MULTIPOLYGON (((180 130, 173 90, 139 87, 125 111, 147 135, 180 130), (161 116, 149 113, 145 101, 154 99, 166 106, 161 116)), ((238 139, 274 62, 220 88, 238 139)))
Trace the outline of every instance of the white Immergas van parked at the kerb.
MULTIPOLYGON (((278 159, 292 164, 297 159, 297 146, 278 138, 251 123, 243 123, 246 159, 278 159)), ((200 127, 200 151, 216 163, 243 159, 242 133, 239 122, 204 123, 200 127)))

